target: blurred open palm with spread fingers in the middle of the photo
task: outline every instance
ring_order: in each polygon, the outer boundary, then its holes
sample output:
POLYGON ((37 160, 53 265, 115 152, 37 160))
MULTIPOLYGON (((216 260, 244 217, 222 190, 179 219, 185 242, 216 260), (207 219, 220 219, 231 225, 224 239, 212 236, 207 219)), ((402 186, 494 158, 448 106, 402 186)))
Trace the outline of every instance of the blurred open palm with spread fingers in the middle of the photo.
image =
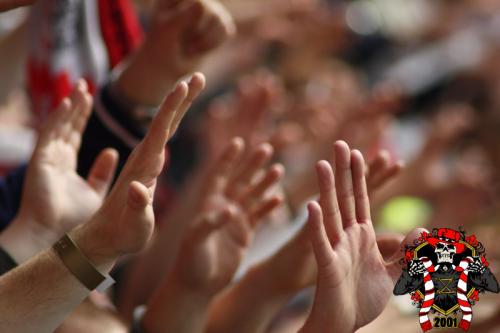
POLYGON ((280 165, 265 167, 272 147, 262 144, 246 159, 243 152, 243 140, 234 139, 207 176, 201 217, 188 231, 178 260, 183 280, 210 294, 229 284, 255 226, 281 203, 267 195, 283 174, 280 165))

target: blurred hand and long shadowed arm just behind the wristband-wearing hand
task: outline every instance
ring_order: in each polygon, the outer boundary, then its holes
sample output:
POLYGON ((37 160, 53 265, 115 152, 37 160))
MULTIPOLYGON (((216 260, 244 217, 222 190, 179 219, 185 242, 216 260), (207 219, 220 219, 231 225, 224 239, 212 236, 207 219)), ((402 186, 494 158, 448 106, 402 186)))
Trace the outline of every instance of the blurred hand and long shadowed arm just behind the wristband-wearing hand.
POLYGON ((218 215, 224 207, 234 206, 232 209, 241 211, 245 219, 256 224, 279 205, 281 196, 267 193, 283 174, 281 165, 266 167, 273 148, 268 143, 247 149, 245 146, 241 138, 231 140, 222 154, 206 168, 199 169, 191 183, 179 193, 181 200, 174 204, 176 209, 166 216, 153 244, 132 269, 128 280, 130 289, 119 306, 124 316, 130 318, 133 308, 146 303, 162 283, 175 265, 186 233, 200 221, 200 216, 218 215), (158 262, 160 256, 164 259, 158 262))

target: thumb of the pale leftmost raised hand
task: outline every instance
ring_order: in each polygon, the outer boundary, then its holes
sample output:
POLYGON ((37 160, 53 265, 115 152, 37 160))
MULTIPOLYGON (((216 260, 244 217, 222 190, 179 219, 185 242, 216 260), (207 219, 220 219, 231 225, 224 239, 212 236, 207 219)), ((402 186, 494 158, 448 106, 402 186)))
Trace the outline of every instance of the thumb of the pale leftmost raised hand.
POLYGON ((118 164, 118 152, 115 149, 103 150, 94 161, 87 182, 101 198, 108 193, 118 164))

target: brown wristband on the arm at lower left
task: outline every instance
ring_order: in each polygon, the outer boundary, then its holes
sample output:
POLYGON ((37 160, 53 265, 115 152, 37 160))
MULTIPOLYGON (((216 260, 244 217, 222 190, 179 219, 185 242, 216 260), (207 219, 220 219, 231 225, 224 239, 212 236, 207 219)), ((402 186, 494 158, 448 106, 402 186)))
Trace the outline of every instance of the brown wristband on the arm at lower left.
POLYGON ((68 270, 88 289, 106 290, 115 281, 103 275, 82 253, 78 245, 65 234, 52 247, 68 270))

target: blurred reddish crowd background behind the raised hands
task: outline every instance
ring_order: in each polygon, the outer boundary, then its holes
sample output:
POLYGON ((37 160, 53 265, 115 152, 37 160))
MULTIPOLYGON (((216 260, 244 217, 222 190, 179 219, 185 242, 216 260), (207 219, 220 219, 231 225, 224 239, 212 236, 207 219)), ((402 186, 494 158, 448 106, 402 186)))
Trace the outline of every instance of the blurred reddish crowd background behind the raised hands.
MULTIPOLYGON (((259 230, 241 272, 303 223, 313 165, 346 140, 399 174, 371 197, 377 231, 463 227, 500 276, 500 2, 495 0, 221 0, 237 35, 203 62, 207 90, 170 144, 157 196, 175 194, 233 136, 269 141, 287 169, 287 208, 259 230), (399 169, 398 169, 399 170, 399 169)), ((147 30, 152 1, 135 1, 147 30)), ((34 121, 25 91, 29 9, 0 15, 0 168, 26 162, 34 121), (7 79, 6 79, 7 78, 7 79)), ((169 228, 168 219, 159 219, 169 228)), ((293 274, 293 272, 290 272, 293 274)), ((311 292, 270 332, 300 327, 311 292), (294 326, 295 325, 295 326, 294 326)), ((500 330, 497 295, 480 295, 474 332, 500 330)), ((361 332, 418 332, 409 297, 361 332)))

